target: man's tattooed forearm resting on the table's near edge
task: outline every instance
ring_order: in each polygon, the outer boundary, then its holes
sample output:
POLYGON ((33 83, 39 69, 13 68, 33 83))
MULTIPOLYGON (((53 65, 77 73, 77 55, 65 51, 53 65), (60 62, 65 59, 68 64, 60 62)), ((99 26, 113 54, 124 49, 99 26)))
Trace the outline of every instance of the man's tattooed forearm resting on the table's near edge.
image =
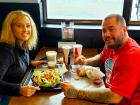
POLYGON ((122 99, 109 88, 80 90, 77 97, 99 103, 118 103, 122 99))

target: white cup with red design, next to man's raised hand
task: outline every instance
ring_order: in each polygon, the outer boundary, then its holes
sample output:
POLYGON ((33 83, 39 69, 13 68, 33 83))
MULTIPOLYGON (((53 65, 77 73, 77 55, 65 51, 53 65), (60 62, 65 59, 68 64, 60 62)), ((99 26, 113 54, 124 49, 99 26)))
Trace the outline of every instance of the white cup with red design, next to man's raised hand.
POLYGON ((82 48, 83 48, 83 45, 81 44, 73 45, 74 60, 82 54, 82 48))

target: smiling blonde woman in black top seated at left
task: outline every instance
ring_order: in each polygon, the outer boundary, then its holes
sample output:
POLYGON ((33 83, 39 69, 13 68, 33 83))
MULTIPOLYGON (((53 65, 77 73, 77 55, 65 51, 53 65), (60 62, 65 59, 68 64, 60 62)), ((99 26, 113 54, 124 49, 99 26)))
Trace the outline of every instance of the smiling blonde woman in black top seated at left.
POLYGON ((39 87, 20 86, 20 82, 32 64, 44 61, 29 59, 29 50, 37 45, 37 29, 31 16, 22 10, 11 11, 2 27, 0 36, 0 95, 32 96, 39 87))

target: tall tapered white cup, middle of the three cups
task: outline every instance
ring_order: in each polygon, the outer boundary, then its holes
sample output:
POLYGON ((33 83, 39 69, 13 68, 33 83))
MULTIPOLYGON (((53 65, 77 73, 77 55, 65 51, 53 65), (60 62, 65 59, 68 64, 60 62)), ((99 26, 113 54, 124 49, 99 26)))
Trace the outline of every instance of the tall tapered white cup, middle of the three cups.
POLYGON ((71 46, 62 46, 63 60, 66 65, 68 65, 68 57, 71 49, 71 46))

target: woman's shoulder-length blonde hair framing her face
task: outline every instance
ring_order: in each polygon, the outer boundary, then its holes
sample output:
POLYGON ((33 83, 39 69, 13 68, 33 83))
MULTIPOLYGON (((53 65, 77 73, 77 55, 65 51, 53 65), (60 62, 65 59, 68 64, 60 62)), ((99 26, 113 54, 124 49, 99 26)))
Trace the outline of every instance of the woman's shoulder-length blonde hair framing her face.
POLYGON ((15 46, 16 44, 16 37, 12 31, 12 24, 19 18, 22 18, 24 16, 27 16, 31 22, 31 36, 29 40, 27 40, 23 47, 26 50, 32 50, 33 48, 36 48, 37 45, 37 28, 35 25, 35 22, 33 21, 32 17, 30 16, 29 13, 22 11, 22 10, 16 10, 16 11, 11 11, 2 26, 2 32, 1 32, 1 37, 0 37, 0 42, 5 42, 8 44, 11 44, 15 46))

